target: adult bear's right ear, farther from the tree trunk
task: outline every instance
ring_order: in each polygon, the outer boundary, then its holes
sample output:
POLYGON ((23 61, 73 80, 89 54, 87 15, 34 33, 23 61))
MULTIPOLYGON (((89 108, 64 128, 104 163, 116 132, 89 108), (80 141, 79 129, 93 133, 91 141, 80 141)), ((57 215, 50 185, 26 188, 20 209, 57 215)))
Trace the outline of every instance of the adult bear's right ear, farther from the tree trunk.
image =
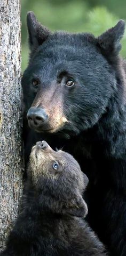
POLYGON ((114 27, 97 38, 97 46, 100 47, 104 55, 116 56, 119 54, 121 50, 120 40, 123 37, 124 30, 125 22, 124 20, 119 20, 114 27))

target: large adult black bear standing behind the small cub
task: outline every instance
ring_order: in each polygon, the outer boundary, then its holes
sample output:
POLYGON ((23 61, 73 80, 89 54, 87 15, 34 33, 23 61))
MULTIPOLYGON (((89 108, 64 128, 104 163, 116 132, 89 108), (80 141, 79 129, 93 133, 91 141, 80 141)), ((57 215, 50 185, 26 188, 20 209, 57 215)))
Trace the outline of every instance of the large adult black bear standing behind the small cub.
POLYGON ((26 161, 31 146, 42 139, 72 154, 89 177, 92 229, 111 255, 125 256, 126 82, 119 56, 125 24, 120 20, 98 38, 53 34, 33 12, 27 24, 31 52, 22 77, 26 161))

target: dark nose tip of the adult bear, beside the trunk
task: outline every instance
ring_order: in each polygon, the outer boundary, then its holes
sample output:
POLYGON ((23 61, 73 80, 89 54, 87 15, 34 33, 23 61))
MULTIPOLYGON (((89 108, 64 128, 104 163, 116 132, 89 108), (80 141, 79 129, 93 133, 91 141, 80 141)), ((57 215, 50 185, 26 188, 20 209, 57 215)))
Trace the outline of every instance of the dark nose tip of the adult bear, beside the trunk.
POLYGON ((30 108, 27 113, 27 119, 31 126, 39 127, 48 120, 48 115, 42 108, 30 108))

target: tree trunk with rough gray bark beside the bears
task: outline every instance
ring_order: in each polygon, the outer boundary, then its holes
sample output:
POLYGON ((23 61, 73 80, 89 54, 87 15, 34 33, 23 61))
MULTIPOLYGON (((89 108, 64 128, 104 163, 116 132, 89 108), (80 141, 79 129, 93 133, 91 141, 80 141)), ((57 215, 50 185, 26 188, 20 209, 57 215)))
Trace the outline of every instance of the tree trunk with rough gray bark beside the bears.
POLYGON ((0 0, 0 249, 22 195, 20 0, 0 0))

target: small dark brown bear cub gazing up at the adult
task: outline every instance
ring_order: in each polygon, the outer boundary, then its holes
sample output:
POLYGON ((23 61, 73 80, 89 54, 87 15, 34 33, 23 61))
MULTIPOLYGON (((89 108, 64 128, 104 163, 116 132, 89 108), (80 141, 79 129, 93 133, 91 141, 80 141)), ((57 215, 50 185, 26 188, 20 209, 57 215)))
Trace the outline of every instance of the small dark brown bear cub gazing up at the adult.
POLYGON ((76 160, 38 142, 30 154, 27 193, 1 256, 106 256, 83 217, 88 178, 76 160))

